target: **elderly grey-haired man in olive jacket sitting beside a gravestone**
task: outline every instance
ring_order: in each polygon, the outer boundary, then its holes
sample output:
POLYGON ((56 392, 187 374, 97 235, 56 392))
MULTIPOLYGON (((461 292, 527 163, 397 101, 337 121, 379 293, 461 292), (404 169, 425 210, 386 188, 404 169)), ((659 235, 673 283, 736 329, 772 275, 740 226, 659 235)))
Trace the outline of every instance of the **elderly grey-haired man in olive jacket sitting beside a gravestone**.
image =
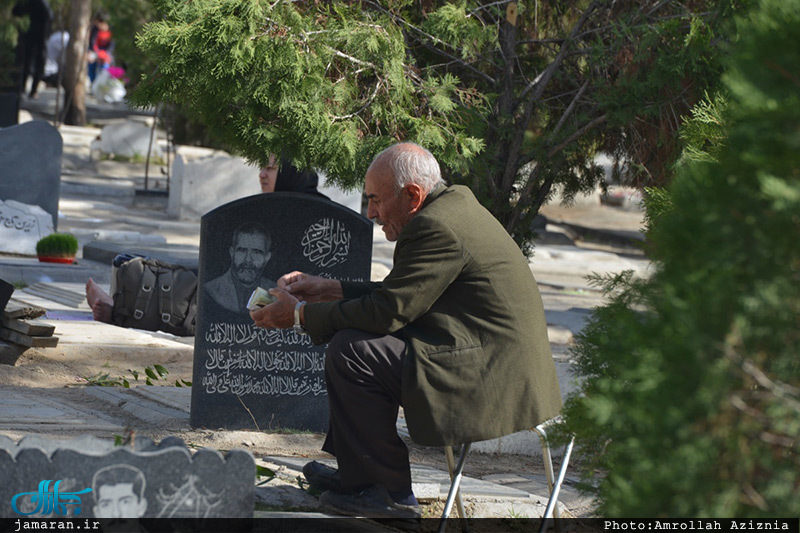
POLYGON ((383 282, 292 272, 270 291, 278 301, 251 317, 329 342, 323 450, 339 469, 303 470, 327 489, 320 501, 344 514, 413 519, 400 405, 412 440, 441 446, 531 428, 559 412, 561 396, 528 262, 472 192, 446 187, 436 159, 411 143, 375 157, 365 192, 367 215, 397 241, 383 282))

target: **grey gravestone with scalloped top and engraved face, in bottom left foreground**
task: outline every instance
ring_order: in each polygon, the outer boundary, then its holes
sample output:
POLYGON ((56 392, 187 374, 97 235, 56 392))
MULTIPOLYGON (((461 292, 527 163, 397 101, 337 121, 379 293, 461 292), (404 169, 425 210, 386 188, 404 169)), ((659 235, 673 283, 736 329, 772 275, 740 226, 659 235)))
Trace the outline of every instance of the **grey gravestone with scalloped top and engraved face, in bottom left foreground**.
POLYGON ((244 450, 192 454, 180 439, 0 436, 0 516, 16 518, 246 518, 256 468, 244 450))

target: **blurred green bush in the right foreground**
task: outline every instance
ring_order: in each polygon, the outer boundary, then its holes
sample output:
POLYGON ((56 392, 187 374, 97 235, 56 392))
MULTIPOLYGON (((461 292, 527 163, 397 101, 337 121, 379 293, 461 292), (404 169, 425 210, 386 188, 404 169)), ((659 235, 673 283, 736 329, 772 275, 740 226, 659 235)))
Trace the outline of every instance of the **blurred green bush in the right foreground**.
POLYGON ((800 513, 800 1, 737 34, 714 156, 648 199, 657 271, 598 279, 574 350, 567 429, 600 516, 800 513))

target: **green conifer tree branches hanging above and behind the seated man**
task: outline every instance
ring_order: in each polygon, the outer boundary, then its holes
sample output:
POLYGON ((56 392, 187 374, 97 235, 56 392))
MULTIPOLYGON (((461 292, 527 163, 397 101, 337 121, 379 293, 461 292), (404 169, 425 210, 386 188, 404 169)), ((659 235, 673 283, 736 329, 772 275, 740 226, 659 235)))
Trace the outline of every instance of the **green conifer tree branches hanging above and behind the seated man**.
POLYGON ((556 189, 603 185, 598 150, 629 161, 630 180, 667 181, 677 117, 716 90, 748 1, 159 0, 137 37, 157 68, 132 99, 348 188, 379 150, 418 142, 529 251, 556 189))

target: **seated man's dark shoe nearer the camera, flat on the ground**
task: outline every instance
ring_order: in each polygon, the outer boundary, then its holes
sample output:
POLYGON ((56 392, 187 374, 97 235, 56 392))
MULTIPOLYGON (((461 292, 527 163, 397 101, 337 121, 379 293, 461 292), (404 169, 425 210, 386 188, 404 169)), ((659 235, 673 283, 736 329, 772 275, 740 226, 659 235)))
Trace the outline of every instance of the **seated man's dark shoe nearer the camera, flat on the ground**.
POLYGON ((327 490, 319 502, 331 511, 348 516, 391 520, 400 527, 419 527, 422 513, 419 505, 396 503, 381 485, 373 485, 358 492, 344 494, 327 490))

